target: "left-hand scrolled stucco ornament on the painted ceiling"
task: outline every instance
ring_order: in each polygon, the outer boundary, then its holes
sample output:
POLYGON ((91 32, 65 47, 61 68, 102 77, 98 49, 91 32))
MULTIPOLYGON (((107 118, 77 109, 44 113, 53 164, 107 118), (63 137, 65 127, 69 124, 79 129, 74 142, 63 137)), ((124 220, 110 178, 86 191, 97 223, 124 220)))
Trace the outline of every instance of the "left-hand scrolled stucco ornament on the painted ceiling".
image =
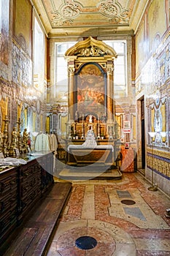
POLYGON ((61 26, 64 23, 73 23, 73 18, 80 15, 81 6, 80 4, 75 4, 73 0, 66 1, 65 5, 61 5, 59 10, 55 10, 52 12, 53 14, 53 20, 52 25, 53 26, 61 26))

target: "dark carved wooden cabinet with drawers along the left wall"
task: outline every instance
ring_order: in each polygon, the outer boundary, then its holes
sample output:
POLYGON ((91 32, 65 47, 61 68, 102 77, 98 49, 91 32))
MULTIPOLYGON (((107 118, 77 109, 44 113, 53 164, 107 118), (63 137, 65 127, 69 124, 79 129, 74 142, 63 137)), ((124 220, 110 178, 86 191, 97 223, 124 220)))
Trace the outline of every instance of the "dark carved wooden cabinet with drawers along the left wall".
POLYGON ((53 184, 53 154, 0 171, 0 244, 20 225, 53 184))

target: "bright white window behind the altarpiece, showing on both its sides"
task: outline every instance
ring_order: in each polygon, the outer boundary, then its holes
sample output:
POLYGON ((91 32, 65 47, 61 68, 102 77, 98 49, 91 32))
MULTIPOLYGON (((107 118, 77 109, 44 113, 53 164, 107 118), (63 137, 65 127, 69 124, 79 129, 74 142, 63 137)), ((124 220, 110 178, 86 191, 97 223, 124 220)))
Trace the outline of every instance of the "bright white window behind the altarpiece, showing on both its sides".
MULTIPOLYGON (((117 53, 114 70, 114 97, 126 97, 126 41, 112 40, 104 41, 114 48, 117 53)), ((55 95, 57 102, 66 102, 68 91, 67 61, 64 59, 66 50, 75 45, 76 42, 55 43, 55 95)))

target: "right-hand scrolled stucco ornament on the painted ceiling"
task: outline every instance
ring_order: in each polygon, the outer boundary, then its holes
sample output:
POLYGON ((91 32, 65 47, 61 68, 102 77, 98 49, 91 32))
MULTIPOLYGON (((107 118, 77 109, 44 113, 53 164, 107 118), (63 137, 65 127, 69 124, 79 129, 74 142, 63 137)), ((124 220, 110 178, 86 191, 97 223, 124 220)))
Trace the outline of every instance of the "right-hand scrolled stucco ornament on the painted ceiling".
POLYGON ((99 5, 101 15, 107 16, 110 23, 128 23, 128 9, 121 6, 117 0, 106 0, 99 5))

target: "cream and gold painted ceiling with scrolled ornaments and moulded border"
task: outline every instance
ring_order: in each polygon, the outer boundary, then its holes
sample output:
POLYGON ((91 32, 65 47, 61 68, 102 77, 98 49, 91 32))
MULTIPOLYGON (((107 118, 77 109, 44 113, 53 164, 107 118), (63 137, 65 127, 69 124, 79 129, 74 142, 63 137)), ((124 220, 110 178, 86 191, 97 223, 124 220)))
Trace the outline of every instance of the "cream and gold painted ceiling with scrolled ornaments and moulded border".
POLYGON ((48 37, 134 34, 149 0, 32 0, 48 37))

